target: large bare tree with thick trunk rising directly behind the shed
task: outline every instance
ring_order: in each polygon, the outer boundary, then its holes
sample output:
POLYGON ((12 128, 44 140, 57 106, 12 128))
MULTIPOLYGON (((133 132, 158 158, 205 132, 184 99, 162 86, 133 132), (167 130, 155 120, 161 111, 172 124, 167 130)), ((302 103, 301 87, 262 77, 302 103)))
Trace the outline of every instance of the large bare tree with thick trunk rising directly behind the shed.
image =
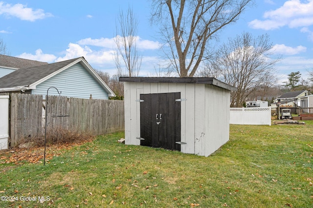
POLYGON ((162 22, 163 50, 170 71, 195 75, 210 55, 208 43, 235 22, 251 0, 152 0, 152 23, 162 22))

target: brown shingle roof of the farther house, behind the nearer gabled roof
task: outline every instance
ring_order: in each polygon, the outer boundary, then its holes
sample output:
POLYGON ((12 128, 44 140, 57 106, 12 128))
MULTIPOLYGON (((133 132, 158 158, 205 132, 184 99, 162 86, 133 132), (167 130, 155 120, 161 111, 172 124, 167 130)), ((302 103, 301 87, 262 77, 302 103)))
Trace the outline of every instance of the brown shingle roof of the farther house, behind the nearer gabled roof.
POLYGON ((0 67, 3 66, 3 67, 14 68, 14 69, 21 69, 21 68, 42 66, 46 64, 48 63, 42 62, 42 61, 34 61, 34 60, 28 60, 24 58, 0 55, 0 67))

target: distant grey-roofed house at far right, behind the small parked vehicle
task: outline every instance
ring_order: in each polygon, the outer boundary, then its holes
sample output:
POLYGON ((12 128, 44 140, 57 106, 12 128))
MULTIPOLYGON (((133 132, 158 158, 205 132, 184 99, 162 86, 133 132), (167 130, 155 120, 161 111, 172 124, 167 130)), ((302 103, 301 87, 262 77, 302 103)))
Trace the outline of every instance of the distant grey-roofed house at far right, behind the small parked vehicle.
POLYGON ((288 92, 280 95, 274 100, 274 103, 280 103, 281 106, 300 106, 300 97, 307 96, 309 94, 310 93, 307 90, 288 92))

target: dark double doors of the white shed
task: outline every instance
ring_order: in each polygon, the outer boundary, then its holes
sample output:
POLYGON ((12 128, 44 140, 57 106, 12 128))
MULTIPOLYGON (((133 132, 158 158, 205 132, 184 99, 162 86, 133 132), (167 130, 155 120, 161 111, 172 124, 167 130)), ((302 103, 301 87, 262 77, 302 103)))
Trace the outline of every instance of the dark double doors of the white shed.
POLYGON ((140 94, 140 145, 180 151, 180 93, 140 94))

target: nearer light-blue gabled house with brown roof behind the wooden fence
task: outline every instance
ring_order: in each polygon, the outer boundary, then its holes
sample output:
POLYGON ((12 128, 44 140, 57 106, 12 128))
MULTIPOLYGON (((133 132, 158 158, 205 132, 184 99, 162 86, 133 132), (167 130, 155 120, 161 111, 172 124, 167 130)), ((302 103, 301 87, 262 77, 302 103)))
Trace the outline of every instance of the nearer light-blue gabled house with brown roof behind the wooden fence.
MULTIPOLYGON (((27 93, 45 97, 49 87, 56 87, 62 92, 61 95, 67 97, 89 99, 91 95, 95 99, 108 99, 115 96, 84 57, 19 68, 0 78, 0 93, 27 93)), ((50 89, 49 95, 59 94, 55 89, 50 89)))

